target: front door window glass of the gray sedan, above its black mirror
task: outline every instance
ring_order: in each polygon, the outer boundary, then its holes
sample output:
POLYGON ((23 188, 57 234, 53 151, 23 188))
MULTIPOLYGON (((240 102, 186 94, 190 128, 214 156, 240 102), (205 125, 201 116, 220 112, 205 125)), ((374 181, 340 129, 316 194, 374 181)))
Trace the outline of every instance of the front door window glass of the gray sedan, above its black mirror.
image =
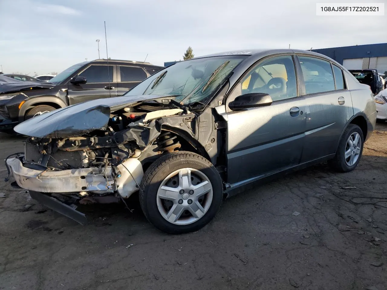
POLYGON ((267 93, 273 101, 296 97, 296 71, 292 56, 265 60, 253 68, 241 84, 242 94, 267 93))

